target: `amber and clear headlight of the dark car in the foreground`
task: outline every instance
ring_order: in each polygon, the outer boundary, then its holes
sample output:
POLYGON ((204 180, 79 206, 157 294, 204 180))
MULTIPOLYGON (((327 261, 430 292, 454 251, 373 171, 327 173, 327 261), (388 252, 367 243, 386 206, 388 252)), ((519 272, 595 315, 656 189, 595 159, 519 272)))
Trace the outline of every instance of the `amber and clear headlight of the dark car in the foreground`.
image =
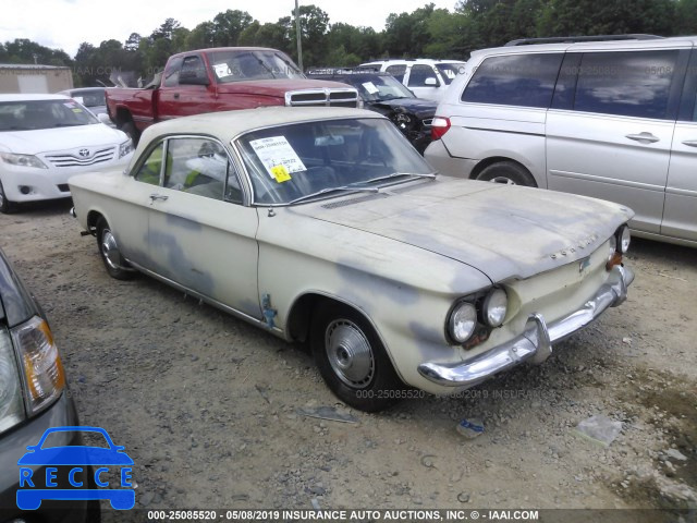
POLYGON ((15 350, 24 368, 28 414, 57 400, 65 388, 65 373, 48 324, 38 316, 12 329, 15 350))

